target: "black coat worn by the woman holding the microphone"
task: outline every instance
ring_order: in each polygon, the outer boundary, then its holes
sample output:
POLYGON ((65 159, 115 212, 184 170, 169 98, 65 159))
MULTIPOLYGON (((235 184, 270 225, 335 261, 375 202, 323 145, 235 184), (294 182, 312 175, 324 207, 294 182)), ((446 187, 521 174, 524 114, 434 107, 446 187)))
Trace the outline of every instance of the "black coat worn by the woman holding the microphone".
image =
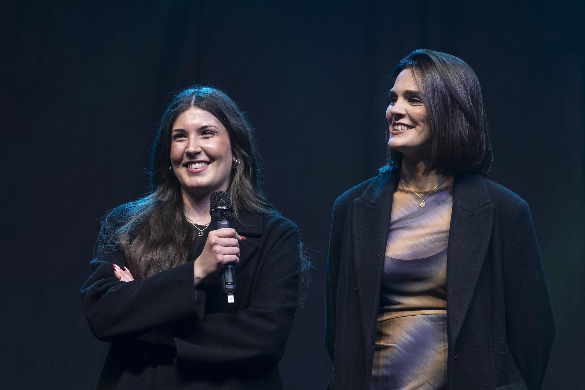
POLYGON ((297 306, 298 229, 280 215, 242 214, 243 223, 233 221, 247 238, 236 311, 219 277, 194 288, 193 262, 128 283, 113 275, 113 262, 127 265, 115 248, 91 262, 85 316, 95 337, 112 343, 98 389, 282 388, 277 363, 297 306))

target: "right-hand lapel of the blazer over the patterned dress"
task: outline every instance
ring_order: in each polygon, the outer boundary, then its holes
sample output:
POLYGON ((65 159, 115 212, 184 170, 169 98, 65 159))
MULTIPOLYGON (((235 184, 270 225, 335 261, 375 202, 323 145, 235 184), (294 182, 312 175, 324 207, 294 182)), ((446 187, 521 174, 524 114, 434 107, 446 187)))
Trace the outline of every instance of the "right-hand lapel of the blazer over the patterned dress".
POLYGON ((493 228, 494 204, 480 175, 455 180, 447 252, 449 350, 469 310, 493 228))

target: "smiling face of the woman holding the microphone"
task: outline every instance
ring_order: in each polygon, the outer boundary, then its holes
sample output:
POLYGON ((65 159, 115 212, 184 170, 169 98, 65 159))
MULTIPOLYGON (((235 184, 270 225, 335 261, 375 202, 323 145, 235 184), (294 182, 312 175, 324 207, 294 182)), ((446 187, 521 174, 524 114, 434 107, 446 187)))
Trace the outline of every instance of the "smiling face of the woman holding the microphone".
POLYGON ((210 112, 191 107, 173 124, 171 167, 185 195, 226 191, 232 172, 228 130, 210 112))

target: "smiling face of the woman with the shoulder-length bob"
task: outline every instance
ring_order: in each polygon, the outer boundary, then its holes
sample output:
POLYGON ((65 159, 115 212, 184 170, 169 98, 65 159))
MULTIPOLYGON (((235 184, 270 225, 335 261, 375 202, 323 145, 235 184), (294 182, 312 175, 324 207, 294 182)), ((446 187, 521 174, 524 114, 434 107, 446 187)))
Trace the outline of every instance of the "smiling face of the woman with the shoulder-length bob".
POLYGON ((388 147, 407 158, 422 159, 429 150, 431 130, 422 94, 411 69, 402 70, 396 77, 390 90, 386 119, 390 127, 388 147))

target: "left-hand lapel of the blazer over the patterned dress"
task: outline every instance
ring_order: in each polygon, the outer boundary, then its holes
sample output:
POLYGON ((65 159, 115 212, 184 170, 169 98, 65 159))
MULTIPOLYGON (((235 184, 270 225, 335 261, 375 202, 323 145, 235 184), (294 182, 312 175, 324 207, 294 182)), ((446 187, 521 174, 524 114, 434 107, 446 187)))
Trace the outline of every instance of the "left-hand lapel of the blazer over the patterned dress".
POLYGON ((368 364, 371 364, 376 337, 380 282, 394 189, 395 175, 381 174, 370 183, 362 197, 353 201, 353 274, 356 278, 355 285, 359 310, 362 314, 366 343, 364 348, 368 364))

